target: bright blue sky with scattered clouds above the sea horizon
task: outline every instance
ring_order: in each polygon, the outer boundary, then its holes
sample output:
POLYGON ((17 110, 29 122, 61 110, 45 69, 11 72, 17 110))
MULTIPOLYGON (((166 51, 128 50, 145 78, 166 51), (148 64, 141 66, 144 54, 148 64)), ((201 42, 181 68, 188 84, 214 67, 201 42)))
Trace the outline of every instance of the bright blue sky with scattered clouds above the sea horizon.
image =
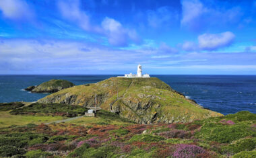
POLYGON ((256 75, 256 1, 1 0, 0 74, 256 75))

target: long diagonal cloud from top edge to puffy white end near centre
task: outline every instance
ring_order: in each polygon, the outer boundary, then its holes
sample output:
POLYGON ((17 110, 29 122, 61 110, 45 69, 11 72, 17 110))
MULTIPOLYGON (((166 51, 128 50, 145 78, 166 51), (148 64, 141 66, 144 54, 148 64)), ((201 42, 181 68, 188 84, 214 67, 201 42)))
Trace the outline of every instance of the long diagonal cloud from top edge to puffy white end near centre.
POLYGON ((92 25, 90 16, 80 9, 80 1, 58 1, 57 3, 61 15, 71 22, 77 23, 82 29, 104 35, 108 38, 109 44, 114 46, 125 46, 129 40, 138 42, 139 38, 135 30, 127 29, 117 20, 105 17, 101 26, 92 25))

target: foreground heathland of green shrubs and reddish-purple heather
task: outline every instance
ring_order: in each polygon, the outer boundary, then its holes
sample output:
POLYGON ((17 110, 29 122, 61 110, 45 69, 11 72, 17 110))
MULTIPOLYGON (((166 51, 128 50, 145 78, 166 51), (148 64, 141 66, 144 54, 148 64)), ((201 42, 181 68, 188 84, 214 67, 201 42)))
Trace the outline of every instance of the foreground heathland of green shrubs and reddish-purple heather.
POLYGON ((256 114, 250 112, 189 123, 147 125, 133 124, 118 114, 100 110, 96 118, 9 126, 0 128, 0 134, 0 157, 236 158, 256 155, 256 114))

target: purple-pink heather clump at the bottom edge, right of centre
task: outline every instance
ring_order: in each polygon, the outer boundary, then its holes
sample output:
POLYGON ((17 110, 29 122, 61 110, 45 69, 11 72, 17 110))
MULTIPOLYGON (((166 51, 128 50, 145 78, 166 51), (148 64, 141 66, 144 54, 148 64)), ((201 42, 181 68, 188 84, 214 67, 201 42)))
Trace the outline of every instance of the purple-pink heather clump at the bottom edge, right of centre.
POLYGON ((205 153, 205 150, 201 147, 197 147, 196 145, 177 145, 176 150, 172 154, 172 157, 175 158, 193 158, 199 154, 205 153))

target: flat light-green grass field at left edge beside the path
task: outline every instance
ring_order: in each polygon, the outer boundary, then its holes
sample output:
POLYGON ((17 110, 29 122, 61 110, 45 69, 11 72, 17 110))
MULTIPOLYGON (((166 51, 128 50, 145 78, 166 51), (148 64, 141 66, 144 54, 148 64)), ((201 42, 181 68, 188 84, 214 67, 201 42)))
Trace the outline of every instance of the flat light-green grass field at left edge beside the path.
POLYGON ((11 125, 25 125, 25 124, 41 124, 45 122, 52 122, 55 120, 62 120, 61 116, 29 116, 29 115, 11 115, 9 111, 0 112, 0 128, 11 125))

